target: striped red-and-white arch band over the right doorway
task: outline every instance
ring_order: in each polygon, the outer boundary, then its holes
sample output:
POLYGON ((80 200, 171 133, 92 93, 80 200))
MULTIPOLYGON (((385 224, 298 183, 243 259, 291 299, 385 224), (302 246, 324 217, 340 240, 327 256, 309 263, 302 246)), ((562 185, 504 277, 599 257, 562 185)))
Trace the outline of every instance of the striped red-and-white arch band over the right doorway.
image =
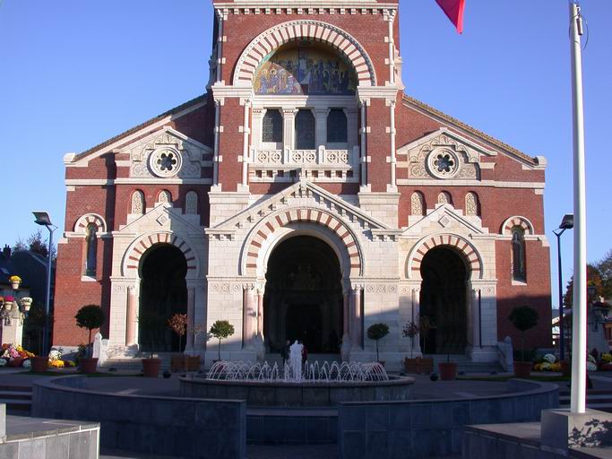
POLYGON ((421 280, 420 270, 423 257, 430 249, 438 246, 449 246, 463 255, 471 281, 482 279, 484 269, 478 250, 469 241, 454 234, 430 235, 418 241, 408 255, 406 263, 406 277, 408 279, 421 280))

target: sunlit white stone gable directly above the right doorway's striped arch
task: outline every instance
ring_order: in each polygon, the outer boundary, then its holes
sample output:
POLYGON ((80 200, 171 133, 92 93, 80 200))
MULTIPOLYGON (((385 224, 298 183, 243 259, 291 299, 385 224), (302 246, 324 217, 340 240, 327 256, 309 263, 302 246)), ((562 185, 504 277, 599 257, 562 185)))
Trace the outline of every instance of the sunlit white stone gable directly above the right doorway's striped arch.
POLYGON ((402 237, 421 236, 439 230, 470 234, 470 236, 488 234, 488 229, 482 227, 479 217, 465 216, 450 204, 437 204, 435 209, 427 211, 427 215, 418 221, 413 221, 403 231, 402 237))

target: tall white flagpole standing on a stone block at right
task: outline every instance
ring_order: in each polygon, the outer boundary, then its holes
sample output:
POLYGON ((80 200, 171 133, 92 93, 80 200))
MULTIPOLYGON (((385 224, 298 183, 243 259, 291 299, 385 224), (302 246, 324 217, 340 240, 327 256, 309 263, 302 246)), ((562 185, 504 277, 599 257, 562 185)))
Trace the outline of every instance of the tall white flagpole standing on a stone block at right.
POLYGON ((572 34, 573 106, 573 328, 572 393, 570 411, 586 411, 587 377, 587 225, 584 174, 584 119, 582 113, 582 19, 580 7, 570 2, 572 34))

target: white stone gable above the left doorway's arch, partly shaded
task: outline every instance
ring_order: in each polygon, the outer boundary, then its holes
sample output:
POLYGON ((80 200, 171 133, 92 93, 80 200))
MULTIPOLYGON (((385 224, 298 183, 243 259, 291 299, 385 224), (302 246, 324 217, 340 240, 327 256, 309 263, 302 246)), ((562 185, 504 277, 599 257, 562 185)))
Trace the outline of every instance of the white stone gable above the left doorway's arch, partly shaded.
POLYGON ((198 214, 185 215, 181 209, 171 207, 165 203, 159 203, 120 227, 119 233, 172 230, 182 234, 203 234, 203 227, 199 225, 199 221, 200 215, 198 214))

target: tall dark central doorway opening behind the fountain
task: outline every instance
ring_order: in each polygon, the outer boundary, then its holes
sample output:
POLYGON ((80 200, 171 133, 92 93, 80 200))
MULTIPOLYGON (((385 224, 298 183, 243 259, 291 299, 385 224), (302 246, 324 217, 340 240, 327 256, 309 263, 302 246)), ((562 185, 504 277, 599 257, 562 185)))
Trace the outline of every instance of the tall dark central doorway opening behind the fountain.
POLYGON ((263 333, 270 352, 301 340, 309 353, 339 353, 342 274, 323 240, 297 236, 275 247, 268 261, 263 333))

